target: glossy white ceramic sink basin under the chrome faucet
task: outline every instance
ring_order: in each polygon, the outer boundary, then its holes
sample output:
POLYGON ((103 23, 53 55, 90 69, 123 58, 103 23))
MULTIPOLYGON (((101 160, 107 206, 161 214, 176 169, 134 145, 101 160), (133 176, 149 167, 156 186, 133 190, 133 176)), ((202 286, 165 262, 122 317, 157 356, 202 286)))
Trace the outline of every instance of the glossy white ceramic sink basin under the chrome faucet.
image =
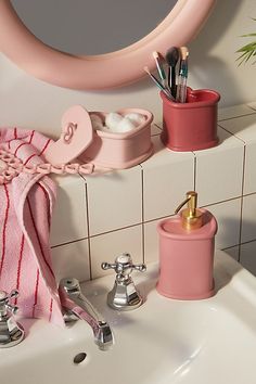
POLYGON ((223 252, 216 253, 216 295, 181 302, 155 291, 157 264, 133 279, 145 303, 129 312, 106 306, 114 277, 82 285, 114 333, 107 351, 77 321, 60 329, 20 320, 26 338, 0 349, 1 384, 255 384, 256 279, 223 252), (75 361, 74 361, 75 359, 75 361))

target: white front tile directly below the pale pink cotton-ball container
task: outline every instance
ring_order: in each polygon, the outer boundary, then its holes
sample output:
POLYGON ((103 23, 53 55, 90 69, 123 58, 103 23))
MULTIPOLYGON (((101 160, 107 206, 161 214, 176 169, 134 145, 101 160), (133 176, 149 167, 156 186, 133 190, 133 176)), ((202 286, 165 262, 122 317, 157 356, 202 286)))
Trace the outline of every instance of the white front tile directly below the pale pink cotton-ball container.
POLYGON ((90 235, 142 221, 141 167, 88 176, 90 235))

